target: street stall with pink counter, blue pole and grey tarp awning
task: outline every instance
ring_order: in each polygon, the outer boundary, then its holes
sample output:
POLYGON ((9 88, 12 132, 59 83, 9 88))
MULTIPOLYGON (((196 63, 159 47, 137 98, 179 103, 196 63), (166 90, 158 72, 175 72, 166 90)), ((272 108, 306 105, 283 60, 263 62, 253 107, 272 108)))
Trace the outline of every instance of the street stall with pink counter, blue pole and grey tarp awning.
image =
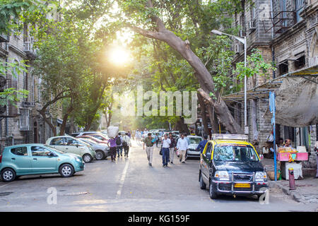
MULTIPOLYGON (((310 140, 312 137, 299 138, 300 133, 297 133, 298 140, 293 140, 295 148, 283 147, 276 145, 279 134, 276 134, 276 125, 289 126, 291 128, 299 129, 318 124, 318 65, 311 66, 309 68, 300 69, 286 73, 283 76, 273 78, 271 81, 267 81, 261 85, 247 90, 247 99, 251 102, 251 119, 249 133, 250 139, 261 139, 260 150, 261 154, 267 154, 273 157, 273 179, 278 179, 278 172, 281 169, 281 177, 288 179, 288 168, 293 168, 295 172, 295 179, 302 178, 302 165, 305 161, 306 164, 312 161, 312 155, 309 153, 312 151, 312 145, 315 141, 310 140), (256 114, 257 108, 255 108, 256 100, 259 106, 262 107, 259 113, 256 114), (267 104, 267 110, 264 111, 263 103, 267 104), (254 109, 253 109, 254 107, 254 109), (266 120, 266 124, 264 121, 266 120), (263 126, 259 128, 261 121, 263 126), (271 126, 271 136, 268 130, 271 126), (266 133, 266 134, 264 134, 266 133), (254 134, 258 134, 255 136, 254 134), (300 143, 300 139, 302 143, 300 143), (300 146, 305 145, 306 147, 300 146), (312 143, 312 144, 310 144, 312 143), (310 160, 309 160, 310 159, 310 160)), ((244 93, 232 93, 230 95, 223 96, 223 100, 228 105, 239 105, 244 99, 244 93)), ((234 109, 235 112, 237 109, 234 109)), ((239 111, 237 111, 240 114, 239 111)), ((279 131, 279 128, 278 128, 279 131)), ((317 132, 317 131, 316 131, 317 132)), ((296 132, 294 132, 296 134, 296 132)), ((290 135, 288 135, 290 136, 290 135)), ((287 136, 287 138, 288 138, 287 136)), ((285 137, 286 138, 286 137, 285 137)), ((265 156, 265 155, 264 155, 265 156)), ((305 165, 306 165, 305 164, 305 165)), ((308 164, 307 164, 308 165, 308 164)))

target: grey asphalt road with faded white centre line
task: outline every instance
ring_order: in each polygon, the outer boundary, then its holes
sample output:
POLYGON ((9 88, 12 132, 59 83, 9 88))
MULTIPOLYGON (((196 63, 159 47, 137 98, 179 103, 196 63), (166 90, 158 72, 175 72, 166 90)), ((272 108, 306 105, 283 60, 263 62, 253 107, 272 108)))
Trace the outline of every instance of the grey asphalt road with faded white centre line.
POLYGON ((317 204, 293 201, 271 189, 269 204, 256 196, 220 196, 211 200, 208 189, 199 189, 199 160, 162 167, 159 149, 153 167, 146 152, 133 143, 129 158, 93 161, 74 177, 59 174, 24 176, 0 182, 0 211, 315 211, 317 204), (57 191, 54 196, 47 191, 57 191), (49 202, 48 202, 49 200, 49 202), (51 204, 49 204, 51 203, 51 204))

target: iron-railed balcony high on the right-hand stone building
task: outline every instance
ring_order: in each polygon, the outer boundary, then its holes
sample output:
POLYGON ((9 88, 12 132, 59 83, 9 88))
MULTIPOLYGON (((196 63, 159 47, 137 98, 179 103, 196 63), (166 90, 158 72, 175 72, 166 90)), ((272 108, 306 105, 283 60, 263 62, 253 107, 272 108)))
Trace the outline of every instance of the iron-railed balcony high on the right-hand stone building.
POLYGON ((295 11, 271 11, 271 20, 270 28, 266 29, 266 25, 263 20, 263 26, 265 32, 273 29, 275 34, 280 34, 291 28, 296 21, 296 12, 295 11))

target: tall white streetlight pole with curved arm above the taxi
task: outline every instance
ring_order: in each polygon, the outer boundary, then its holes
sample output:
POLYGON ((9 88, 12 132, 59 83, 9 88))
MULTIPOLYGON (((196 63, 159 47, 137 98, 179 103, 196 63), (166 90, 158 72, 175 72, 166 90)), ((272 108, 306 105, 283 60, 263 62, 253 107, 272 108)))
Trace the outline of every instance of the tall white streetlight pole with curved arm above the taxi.
MULTIPOLYGON (((219 30, 211 30, 211 34, 215 35, 228 35, 230 37, 234 37, 236 40, 242 42, 244 44, 244 66, 246 67, 246 54, 247 54, 247 42, 246 36, 237 37, 235 35, 229 35, 224 32, 220 32, 219 30)), ((245 134, 249 133, 249 127, 247 126, 247 96, 246 96, 246 75, 244 76, 244 132, 245 134)))

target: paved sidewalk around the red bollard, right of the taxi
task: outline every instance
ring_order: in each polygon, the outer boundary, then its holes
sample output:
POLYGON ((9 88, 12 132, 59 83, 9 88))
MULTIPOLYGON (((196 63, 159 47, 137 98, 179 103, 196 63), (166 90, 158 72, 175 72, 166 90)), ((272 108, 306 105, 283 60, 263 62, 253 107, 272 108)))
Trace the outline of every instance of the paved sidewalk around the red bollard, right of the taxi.
MULTIPOLYGON (((273 171, 273 159, 264 158, 261 160, 266 171, 273 171)), ((295 180, 295 190, 289 190, 289 181, 281 179, 271 181, 269 179, 269 187, 280 188, 285 194, 293 197, 295 201, 302 203, 318 203, 318 178, 304 177, 304 179, 295 180)))

